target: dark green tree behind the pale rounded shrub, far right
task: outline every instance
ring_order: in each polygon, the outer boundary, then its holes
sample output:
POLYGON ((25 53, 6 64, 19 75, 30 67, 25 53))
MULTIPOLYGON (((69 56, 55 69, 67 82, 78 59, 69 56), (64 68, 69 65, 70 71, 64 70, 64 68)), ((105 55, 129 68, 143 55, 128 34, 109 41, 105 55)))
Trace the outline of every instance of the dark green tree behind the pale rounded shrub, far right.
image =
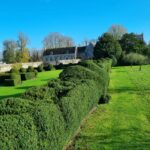
POLYGON ((131 52, 142 54, 142 50, 146 45, 143 39, 138 38, 134 33, 124 34, 120 40, 120 44, 126 54, 131 52))

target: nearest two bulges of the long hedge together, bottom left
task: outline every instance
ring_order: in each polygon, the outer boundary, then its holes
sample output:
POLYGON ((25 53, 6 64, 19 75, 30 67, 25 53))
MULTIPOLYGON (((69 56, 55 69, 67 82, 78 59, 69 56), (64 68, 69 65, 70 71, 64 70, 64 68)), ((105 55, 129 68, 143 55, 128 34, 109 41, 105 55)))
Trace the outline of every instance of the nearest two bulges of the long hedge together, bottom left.
POLYGON ((19 98, 0 102, 2 149, 62 149, 65 132, 63 116, 52 102, 19 98))

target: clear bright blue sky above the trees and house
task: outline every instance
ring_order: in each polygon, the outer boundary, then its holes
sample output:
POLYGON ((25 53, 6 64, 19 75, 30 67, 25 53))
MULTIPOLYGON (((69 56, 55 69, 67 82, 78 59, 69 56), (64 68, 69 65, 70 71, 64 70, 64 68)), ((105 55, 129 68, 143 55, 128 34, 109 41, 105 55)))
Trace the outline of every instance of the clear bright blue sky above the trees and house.
POLYGON ((42 48, 50 32, 71 36, 78 44, 96 39, 112 24, 128 32, 141 33, 150 40, 150 0, 1 0, 0 49, 6 39, 16 40, 18 32, 30 39, 30 48, 42 48))

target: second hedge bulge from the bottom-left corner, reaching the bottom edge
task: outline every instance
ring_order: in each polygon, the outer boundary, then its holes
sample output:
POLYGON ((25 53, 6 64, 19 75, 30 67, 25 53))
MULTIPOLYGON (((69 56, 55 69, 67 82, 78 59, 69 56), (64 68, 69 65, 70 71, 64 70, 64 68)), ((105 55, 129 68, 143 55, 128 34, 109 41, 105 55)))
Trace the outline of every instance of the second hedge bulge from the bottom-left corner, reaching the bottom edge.
POLYGON ((38 134, 38 149, 61 150, 66 140, 64 118, 54 103, 36 103, 32 112, 38 134))

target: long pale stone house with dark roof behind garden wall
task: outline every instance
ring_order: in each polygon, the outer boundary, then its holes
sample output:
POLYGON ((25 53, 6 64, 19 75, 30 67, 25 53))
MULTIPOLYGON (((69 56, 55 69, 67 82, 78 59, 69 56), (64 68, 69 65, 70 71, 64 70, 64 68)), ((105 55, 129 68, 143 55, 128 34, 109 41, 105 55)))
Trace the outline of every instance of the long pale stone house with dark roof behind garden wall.
POLYGON ((92 43, 82 47, 47 49, 43 52, 43 62, 53 65, 78 63, 80 60, 93 58, 93 51, 92 43))

